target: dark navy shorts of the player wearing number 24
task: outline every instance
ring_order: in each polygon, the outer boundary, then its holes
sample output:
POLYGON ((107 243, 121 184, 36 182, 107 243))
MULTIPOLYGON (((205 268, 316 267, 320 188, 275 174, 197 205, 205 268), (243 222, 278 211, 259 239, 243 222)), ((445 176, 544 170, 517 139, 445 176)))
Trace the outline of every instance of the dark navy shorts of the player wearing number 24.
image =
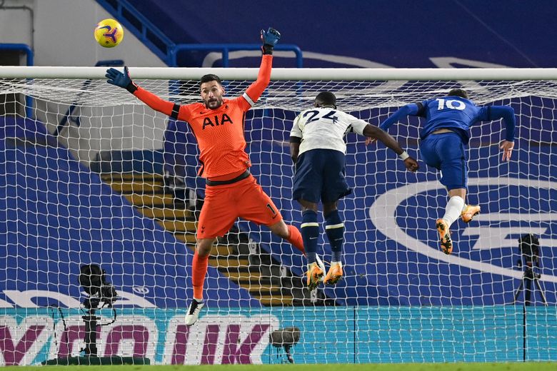
POLYGON ((332 149, 312 149, 298 156, 292 198, 332 203, 352 190, 345 179, 344 153, 332 149))

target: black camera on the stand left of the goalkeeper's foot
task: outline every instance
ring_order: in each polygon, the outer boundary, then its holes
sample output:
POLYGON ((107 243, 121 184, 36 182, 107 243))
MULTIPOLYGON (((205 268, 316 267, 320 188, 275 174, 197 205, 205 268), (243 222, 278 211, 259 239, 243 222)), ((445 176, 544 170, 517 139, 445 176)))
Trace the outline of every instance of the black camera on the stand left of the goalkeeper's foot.
POLYGON ((106 271, 99 265, 81 265, 79 284, 89 295, 88 300, 84 303, 85 308, 96 308, 100 302, 111 308, 118 299, 116 289, 106 280, 106 271))

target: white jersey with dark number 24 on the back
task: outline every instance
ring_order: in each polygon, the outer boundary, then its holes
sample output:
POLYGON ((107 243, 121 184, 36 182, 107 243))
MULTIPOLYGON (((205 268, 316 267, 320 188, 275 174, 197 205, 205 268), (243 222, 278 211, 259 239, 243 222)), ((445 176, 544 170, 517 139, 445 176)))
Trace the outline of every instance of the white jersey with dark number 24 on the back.
POLYGON ((301 138, 300 152, 312 149, 333 149, 346 154, 344 136, 353 131, 363 135, 368 123, 337 109, 310 108, 294 120, 290 136, 301 138))

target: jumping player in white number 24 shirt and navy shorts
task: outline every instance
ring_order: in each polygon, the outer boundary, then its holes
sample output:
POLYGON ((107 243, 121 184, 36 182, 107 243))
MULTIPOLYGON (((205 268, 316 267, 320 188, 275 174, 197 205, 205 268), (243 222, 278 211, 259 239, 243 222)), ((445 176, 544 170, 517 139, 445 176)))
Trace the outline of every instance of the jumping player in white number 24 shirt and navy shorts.
POLYGON ((388 133, 336 109, 336 96, 330 91, 319 93, 314 108, 296 117, 290 133, 290 153, 296 163, 292 198, 302 206, 301 235, 308 259, 307 286, 310 290, 317 287, 325 273, 319 262, 316 262, 319 235, 317 206, 320 201, 323 203, 325 231, 333 253, 331 267, 323 283, 337 283, 343 275, 341 252, 344 223, 337 205, 338 199, 351 193, 344 178, 344 136, 349 131, 378 139, 398 154, 409 171, 418 170, 416 160, 408 156, 388 133))

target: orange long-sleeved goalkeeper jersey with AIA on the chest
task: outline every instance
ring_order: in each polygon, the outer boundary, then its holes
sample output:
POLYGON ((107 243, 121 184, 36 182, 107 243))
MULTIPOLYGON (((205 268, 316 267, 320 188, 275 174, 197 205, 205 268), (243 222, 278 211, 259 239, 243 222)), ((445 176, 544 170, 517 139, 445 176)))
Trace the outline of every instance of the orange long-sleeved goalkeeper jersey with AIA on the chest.
POLYGON ((154 110, 189 123, 199 144, 200 176, 226 176, 251 166, 246 153, 244 120, 246 111, 254 105, 271 81, 272 61, 272 55, 264 55, 257 80, 243 95, 223 99, 222 105, 216 109, 206 108, 204 103, 180 106, 164 101, 141 87, 137 88, 134 95, 154 110))

